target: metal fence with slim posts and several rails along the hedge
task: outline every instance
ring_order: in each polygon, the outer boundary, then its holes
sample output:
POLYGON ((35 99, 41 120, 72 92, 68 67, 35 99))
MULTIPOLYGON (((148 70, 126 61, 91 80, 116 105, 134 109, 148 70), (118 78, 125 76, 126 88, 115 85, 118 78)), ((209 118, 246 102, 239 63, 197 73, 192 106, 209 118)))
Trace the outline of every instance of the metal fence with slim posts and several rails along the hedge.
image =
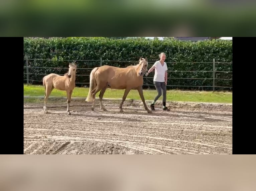
MULTIPOLYGON (((47 72, 43 72, 41 74, 39 73, 31 73, 29 72, 29 70, 31 68, 40 68, 40 69, 54 69, 54 70, 58 70, 58 69, 65 69, 65 70, 68 70, 68 68, 55 68, 55 67, 40 67, 40 66, 29 66, 29 61, 42 61, 42 62, 57 62, 57 61, 61 61, 61 62, 72 62, 72 61, 76 61, 76 62, 97 62, 97 64, 91 64, 91 67, 88 67, 87 68, 78 68, 78 70, 89 70, 91 71, 94 67, 98 67, 98 66, 102 66, 102 65, 108 65, 109 63, 111 62, 115 62, 115 63, 127 63, 128 65, 136 65, 138 62, 137 61, 112 61, 112 60, 102 60, 102 58, 100 58, 99 60, 51 60, 51 59, 28 59, 28 58, 24 58, 24 61, 25 61, 25 66, 24 66, 24 69, 26 69, 26 72, 24 72, 23 74, 26 75, 26 79, 24 79, 24 81, 26 81, 26 84, 31 84, 30 82, 42 82, 42 80, 35 80, 35 79, 31 79, 30 76, 32 75, 42 75, 45 76, 45 75, 48 75, 49 73, 47 72)), ((149 68, 154 64, 155 62, 148 62, 149 66, 148 66, 148 70, 149 68)), ((184 64, 184 63, 188 63, 188 62, 166 62, 167 66, 169 64, 184 64)), ((215 91, 215 88, 228 88, 228 89, 232 89, 232 86, 231 87, 223 87, 223 86, 216 86, 215 85, 215 81, 216 80, 229 80, 229 81, 232 81, 232 78, 229 78, 229 79, 224 79, 224 78, 216 78, 216 73, 232 73, 232 71, 216 71, 216 63, 218 64, 232 64, 232 62, 228 63, 228 62, 215 62, 215 59, 213 59, 213 62, 189 62, 189 63, 193 63, 193 64, 199 64, 199 63, 205 63, 205 64, 212 64, 212 70, 210 71, 205 71, 205 70, 200 70, 200 71, 167 71, 168 73, 168 76, 170 76, 169 74, 172 73, 172 72, 189 72, 189 73, 197 73, 197 72, 202 72, 203 74, 205 73, 212 73, 212 78, 167 78, 167 79, 184 79, 184 80, 212 80, 212 86, 182 86, 182 85, 167 85, 167 87, 201 87, 201 88, 212 88, 213 91, 215 91)), ((154 72, 154 71, 153 71, 154 72)), ((153 73, 152 72, 152 73, 153 73)), ((56 73, 58 75, 61 75, 63 76, 64 73, 56 73)), ((77 77, 79 76, 90 76, 90 74, 77 74, 76 75, 77 77)), ((153 84, 153 77, 143 77, 144 78, 144 84, 143 86, 154 86, 153 84), (146 78, 146 79, 145 79, 146 78), (152 81, 152 82, 149 82, 152 81)), ((87 87, 89 87, 89 82, 87 83, 81 83, 81 82, 76 82, 76 84, 85 84, 87 85, 87 87)))

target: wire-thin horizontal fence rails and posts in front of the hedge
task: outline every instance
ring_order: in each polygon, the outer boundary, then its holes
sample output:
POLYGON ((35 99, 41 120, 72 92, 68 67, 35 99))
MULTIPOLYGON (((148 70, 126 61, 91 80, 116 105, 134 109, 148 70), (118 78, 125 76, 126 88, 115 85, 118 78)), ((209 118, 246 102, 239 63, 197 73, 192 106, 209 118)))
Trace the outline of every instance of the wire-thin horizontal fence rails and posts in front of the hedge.
MULTIPOLYGON (((26 73, 23 73, 24 75, 26 75, 26 79, 24 79, 24 81, 27 82, 27 84, 29 84, 29 82, 42 82, 42 80, 33 80, 33 79, 29 79, 29 75, 48 75, 49 73, 43 73, 43 74, 39 74, 39 73, 29 73, 29 69, 31 68, 41 68, 41 69, 67 69, 68 68, 56 68, 56 67, 37 67, 37 66, 29 66, 28 64, 28 61, 29 60, 41 60, 41 61, 78 61, 78 62, 100 62, 100 66, 102 66, 102 63, 103 62, 121 62, 121 63, 137 63, 137 61, 112 61, 112 60, 102 60, 102 58, 100 58, 100 60, 53 60, 53 59, 29 59, 29 58, 24 58, 24 60, 26 60, 26 66, 24 66, 24 68, 26 68, 26 73)), ((148 63, 154 63, 154 62, 148 62, 148 63)), ((224 78, 215 78, 215 75, 216 73, 233 73, 232 71, 216 71, 215 69, 215 65, 216 63, 217 64, 232 64, 232 62, 215 62, 215 59, 213 59, 213 62, 166 62, 166 64, 189 64, 189 63, 193 63, 193 64, 199 64, 199 63, 205 63, 205 64, 212 64, 213 65, 213 70, 210 70, 210 71, 172 71, 172 70, 169 70, 167 71, 168 73, 169 72, 204 72, 204 73, 213 73, 212 74, 212 78, 167 78, 167 79, 184 79, 184 80, 212 80, 212 86, 184 86, 184 85, 167 85, 167 87, 208 87, 208 88, 213 88, 213 91, 215 91, 215 88, 232 88, 232 87, 224 87, 224 86, 215 86, 215 80, 228 80, 228 81, 232 81, 233 79, 224 79, 224 78)), ((93 68, 78 68, 78 70, 92 70, 93 68)), ((152 71, 154 72, 154 71, 152 71)), ((60 76, 63 76, 64 74, 58 74, 60 76)), ((76 76, 90 76, 90 74, 77 74, 76 76)), ((154 86, 153 85, 153 82, 152 84, 148 84, 148 80, 147 79, 153 79, 153 77, 143 77, 144 79, 146 78, 146 81, 144 80, 144 84, 143 86, 154 86), (146 84, 145 84, 146 82, 146 84)), ((81 83, 81 82, 76 82, 76 84, 90 84, 89 82, 88 83, 81 83)))

